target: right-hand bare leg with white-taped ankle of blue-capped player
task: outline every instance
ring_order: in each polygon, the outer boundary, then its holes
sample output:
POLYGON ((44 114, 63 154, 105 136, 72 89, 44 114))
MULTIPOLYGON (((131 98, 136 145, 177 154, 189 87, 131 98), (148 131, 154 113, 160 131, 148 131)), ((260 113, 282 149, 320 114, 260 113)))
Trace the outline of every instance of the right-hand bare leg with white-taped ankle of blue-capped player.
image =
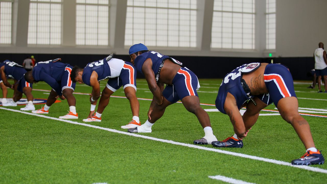
POLYGON ((200 100, 197 96, 186 96, 184 97, 181 102, 183 103, 186 110, 189 112, 195 114, 195 116, 198 118, 198 121, 200 122, 205 136, 201 139, 195 140, 194 144, 211 144, 213 141, 217 141, 217 138, 213 134, 210 118, 208 113, 202 109, 200 106, 200 100))

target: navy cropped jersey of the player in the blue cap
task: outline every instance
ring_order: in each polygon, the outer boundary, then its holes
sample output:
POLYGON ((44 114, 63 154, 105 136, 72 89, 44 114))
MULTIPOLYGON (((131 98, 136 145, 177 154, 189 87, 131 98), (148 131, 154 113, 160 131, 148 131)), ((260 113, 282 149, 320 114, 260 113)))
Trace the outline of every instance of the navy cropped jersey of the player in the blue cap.
POLYGON ((148 51, 139 56, 137 56, 134 60, 134 65, 137 71, 142 72, 142 66, 146 59, 151 58, 152 60, 152 70, 154 74, 156 74, 159 70, 160 64, 162 63, 163 59, 169 58, 169 56, 161 55, 155 51, 148 51))

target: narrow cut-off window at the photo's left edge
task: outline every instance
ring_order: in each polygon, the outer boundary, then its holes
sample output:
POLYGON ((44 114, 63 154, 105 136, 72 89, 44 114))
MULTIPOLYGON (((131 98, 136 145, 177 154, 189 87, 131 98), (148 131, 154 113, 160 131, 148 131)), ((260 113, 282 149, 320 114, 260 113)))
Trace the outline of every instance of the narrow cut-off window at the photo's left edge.
POLYGON ((0 1, 0 44, 11 44, 12 1, 0 1))

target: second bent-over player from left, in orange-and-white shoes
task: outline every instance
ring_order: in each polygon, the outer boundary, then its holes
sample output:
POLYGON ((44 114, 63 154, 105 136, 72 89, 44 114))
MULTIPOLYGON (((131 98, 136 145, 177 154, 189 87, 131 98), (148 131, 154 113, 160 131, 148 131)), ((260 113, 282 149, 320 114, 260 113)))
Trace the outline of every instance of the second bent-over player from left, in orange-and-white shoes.
POLYGON ((70 79, 72 66, 60 63, 60 58, 38 62, 32 71, 25 74, 25 80, 29 83, 37 83, 44 81, 49 84, 52 89, 46 104, 39 110, 32 111, 34 114, 48 114, 50 106, 57 100, 58 96, 61 100, 67 99, 69 105, 68 114, 60 116, 60 119, 78 119, 76 112, 76 99, 73 95, 76 83, 70 79))

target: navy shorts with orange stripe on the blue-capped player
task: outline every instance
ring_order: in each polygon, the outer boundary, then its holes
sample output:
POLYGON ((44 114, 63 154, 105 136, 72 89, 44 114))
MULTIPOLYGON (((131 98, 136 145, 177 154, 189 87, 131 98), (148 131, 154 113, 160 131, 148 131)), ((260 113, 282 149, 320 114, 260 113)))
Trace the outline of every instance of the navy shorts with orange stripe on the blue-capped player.
POLYGON ((186 96, 197 96, 198 77, 187 68, 180 68, 173 79, 173 85, 167 85, 163 97, 171 103, 176 103, 186 96))

